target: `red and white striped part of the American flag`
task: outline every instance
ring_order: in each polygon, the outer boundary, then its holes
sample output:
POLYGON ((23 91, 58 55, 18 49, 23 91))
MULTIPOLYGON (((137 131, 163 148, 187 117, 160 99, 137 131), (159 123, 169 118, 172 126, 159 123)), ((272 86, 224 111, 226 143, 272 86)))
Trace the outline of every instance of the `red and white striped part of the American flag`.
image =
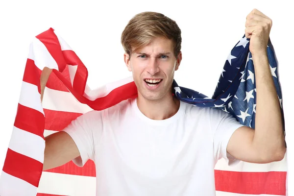
MULTIPOLYGON (((87 77, 84 64, 52 28, 34 38, 0 176, 0 196, 95 196, 93 161, 83 168, 71 161, 42 172, 44 137, 62 130, 90 110, 102 110, 137 97, 132 78, 91 90, 86 85, 87 77), (40 74, 44 67, 53 72, 41 103, 40 74)), ((240 162, 234 167, 220 160, 215 168, 217 196, 285 196, 286 171, 286 156, 280 162, 240 162)))

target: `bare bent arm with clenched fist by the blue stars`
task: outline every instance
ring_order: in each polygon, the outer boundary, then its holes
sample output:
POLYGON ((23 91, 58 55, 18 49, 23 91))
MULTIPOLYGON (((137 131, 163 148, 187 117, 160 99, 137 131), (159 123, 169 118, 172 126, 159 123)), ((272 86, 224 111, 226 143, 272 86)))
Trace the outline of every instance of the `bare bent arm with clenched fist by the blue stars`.
POLYGON ((246 18, 245 34, 250 38, 250 51, 256 80, 255 130, 240 127, 232 135, 227 152, 253 163, 280 161, 286 152, 280 102, 270 73, 267 44, 271 20, 254 9, 246 18))

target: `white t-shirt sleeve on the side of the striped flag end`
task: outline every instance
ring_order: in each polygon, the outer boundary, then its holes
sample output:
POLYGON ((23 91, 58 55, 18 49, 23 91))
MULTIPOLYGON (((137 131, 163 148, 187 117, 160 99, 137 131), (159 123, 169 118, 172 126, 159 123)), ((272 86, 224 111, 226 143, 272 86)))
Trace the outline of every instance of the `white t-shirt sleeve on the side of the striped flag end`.
POLYGON ((95 145, 103 132, 101 112, 87 112, 62 130, 73 138, 79 150, 80 156, 73 159, 73 163, 79 167, 83 167, 89 159, 95 160, 95 145))

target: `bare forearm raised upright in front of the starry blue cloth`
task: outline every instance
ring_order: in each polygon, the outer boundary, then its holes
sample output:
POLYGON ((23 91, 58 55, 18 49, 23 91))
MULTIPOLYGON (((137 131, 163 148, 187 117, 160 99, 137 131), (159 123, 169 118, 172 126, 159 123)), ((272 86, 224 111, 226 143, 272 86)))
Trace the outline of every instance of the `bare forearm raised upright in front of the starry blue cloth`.
POLYGON ((253 145, 262 155, 285 154, 281 107, 276 93, 266 52, 253 56, 256 81, 256 116, 253 145))

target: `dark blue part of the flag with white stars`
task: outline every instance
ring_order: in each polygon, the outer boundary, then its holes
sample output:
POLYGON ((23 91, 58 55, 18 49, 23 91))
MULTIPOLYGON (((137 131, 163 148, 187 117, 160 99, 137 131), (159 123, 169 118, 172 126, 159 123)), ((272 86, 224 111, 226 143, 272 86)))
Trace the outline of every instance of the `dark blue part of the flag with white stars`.
MULTIPOLYGON (((212 98, 178 86, 173 80, 173 94, 180 100, 199 107, 216 107, 233 115, 243 125, 255 128, 256 114, 256 83, 254 65, 249 51, 249 39, 243 38, 235 45, 228 55, 221 76, 212 98)), ((282 93, 278 77, 277 60, 271 42, 267 47, 271 75, 280 101, 282 93)), ((284 116, 283 116, 284 120, 284 116)))

